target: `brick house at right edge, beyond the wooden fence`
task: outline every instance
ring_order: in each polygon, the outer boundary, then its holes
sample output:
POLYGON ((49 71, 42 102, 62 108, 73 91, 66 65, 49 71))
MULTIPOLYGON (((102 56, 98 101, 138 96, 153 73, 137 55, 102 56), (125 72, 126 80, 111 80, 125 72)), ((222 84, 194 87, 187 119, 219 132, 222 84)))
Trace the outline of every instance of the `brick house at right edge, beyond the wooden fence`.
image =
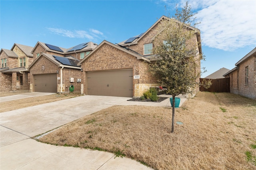
POLYGON ((256 48, 238 61, 235 66, 223 75, 230 77, 230 92, 256 99, 256 48))

